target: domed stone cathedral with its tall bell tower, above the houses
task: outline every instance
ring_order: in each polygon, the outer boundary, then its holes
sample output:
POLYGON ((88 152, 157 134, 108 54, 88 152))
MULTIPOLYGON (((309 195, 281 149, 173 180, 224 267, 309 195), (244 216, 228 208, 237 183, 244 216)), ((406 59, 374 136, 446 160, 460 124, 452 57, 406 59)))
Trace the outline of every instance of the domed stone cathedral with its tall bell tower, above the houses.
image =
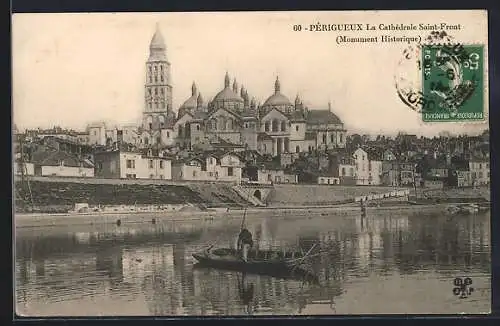
POLYGON ((173 85, 165 40, 156 27, 149 46, 144 84, 142 123, 135 130, 123 129, 124 142, 139 147, 255 150, 273 156, 314 149, 345 147, 342 121, 328 109, 305 107, 297 95, 292 103, 274 81, 272 94, 257 104, 247 89, 221 76, 222 89, 205 101, 193 82, 191 96, 178 108, 172 107, 173 85), (134 134, 134 136, 131 136, 134 134))

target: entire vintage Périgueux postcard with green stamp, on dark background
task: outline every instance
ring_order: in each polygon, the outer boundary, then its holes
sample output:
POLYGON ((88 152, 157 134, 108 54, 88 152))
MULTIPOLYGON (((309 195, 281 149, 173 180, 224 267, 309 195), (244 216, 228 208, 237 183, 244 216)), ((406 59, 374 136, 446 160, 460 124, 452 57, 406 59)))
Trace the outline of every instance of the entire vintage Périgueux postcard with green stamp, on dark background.
POLYGON ((487 20, 15 14, 17 315, 489 313, 487 20))

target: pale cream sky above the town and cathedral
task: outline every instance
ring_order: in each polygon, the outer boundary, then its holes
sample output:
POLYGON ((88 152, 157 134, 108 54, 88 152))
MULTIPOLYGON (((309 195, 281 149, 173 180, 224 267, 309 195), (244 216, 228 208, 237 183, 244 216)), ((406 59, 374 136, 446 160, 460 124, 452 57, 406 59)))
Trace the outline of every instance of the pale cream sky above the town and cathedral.
POLYGON ((172 67, 175 110, 191 95, 193 81, 203 98, 211 99, 223 88, 227 71, 261 103, 272 95, 279 76, 290 101, 298 94, 310 109, 328 109, 330 102, 351 133, 436 135, 487 128, 484 123, 423 123, 398 99, 394 75, 408 44, 336 42, 338 35, 423 37, 429 31, 292 28, 318 22, 446 22, 461 24, 461 30, 450 32, 455 39, 487 43, 484 11, 15 14, 13 120, 21 130, 138 122, 149 42, 158 24, 172 67))

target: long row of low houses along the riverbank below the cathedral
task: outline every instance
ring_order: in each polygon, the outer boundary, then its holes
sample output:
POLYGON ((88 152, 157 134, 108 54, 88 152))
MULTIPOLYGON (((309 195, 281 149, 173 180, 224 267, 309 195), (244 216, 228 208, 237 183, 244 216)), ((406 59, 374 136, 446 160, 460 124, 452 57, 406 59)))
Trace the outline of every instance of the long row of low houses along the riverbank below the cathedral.
POLYGON ((282 153, 273 157, 244 147, 233 148, 223 141, 178 151, 139 148, 126 142, 89 147, 47 135, 21 147, 14 172, 26 175, 423 187, 467 187, 490 182, 489 151, 481 146, 461 155, 437 151, 402 155, 392 149, 362 145, 355 150, 282 153), (21 155, 25 162, 22 166, 21 155), (298 166, 301 160, 303 166, 298 166), (307 170, 313 172, 312 179, 303 178, 307 170))

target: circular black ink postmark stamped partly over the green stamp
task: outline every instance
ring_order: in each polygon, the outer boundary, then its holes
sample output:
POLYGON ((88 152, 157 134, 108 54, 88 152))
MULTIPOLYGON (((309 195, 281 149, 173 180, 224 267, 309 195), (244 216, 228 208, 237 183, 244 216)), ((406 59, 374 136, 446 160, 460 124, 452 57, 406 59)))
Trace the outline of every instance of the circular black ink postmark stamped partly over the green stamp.
POLYGON ((418 113, 458 117, 481 82, 482 55, 473 50, 444 31, 404 49, 394 76, 399 99, 418 113))

